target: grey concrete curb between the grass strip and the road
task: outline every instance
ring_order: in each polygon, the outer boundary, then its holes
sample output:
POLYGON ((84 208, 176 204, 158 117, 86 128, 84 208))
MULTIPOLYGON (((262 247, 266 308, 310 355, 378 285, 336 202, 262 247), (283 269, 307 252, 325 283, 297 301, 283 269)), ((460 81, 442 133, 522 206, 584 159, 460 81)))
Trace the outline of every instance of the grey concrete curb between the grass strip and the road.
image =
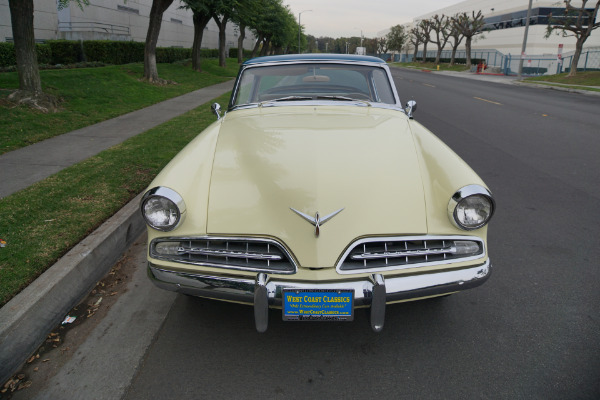
POLYGON ((142 233, 141 194, 0 309, 0 384, 44 342, 66 313, 142 233))

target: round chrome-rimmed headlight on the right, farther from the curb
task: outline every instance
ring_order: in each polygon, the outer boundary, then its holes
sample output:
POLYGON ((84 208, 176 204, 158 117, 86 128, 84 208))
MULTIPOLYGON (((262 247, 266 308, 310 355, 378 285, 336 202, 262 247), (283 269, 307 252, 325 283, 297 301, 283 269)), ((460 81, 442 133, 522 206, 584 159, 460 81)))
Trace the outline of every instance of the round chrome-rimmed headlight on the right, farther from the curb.
POLYGON ((494 214, 492 194, 479 185, 469 185, 458 190, 450 199, 450 221, 460 229, 473 230, 487 224, 494 214))

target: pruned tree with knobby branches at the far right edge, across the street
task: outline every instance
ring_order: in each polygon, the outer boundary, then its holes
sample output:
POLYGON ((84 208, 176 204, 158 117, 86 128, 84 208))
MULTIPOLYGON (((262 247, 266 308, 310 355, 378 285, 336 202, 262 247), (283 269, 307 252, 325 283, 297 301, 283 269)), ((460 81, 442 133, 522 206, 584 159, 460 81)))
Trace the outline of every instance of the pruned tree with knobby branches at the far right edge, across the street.
POLYGON ((571 0, 565 0, 564 14, 560 17, 551 17, 546 28, 546 35, 544 36, 546 38, 550 37, 553 32, 562 35, 562 37, 576 38, 575 54, 573 54, 571 71, 569 71, 568 76, 577 75, 577 64, 583 50, 583 44, 590 37, 592 31, 600 27, 600 21, 596 21, 600 0, 596 1, 593 9, 585 7, 587 2, 588 0, 582 0, 581 7, 573 7, 571 0))

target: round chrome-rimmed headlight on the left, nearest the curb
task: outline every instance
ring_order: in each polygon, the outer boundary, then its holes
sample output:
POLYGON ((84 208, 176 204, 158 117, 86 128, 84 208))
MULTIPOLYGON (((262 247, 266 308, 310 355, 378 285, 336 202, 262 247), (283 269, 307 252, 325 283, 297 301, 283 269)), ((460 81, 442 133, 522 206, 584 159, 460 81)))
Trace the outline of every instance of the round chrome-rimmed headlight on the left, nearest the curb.
POLYGON ((146 223, 159 231, 171 231, 182 221, 185 203, 172 189, 156 187, 144 195, 141 210, 146 223))

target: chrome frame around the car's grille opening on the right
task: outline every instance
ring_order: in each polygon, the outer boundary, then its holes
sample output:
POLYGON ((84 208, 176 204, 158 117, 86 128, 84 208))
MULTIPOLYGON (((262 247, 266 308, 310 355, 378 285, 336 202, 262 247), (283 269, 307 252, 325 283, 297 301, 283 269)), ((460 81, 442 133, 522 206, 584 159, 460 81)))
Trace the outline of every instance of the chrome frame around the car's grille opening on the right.
POLYGON ((385 271, 399 271, 399 270, 403 270, 403 269, 419 268, 419 267, 426 267, 426 266, 432 266, 432 265, 447 265, 447 264, 455 264, 457 262, 474 261, 474 260, 485 258, 486 254, 487 254, 487 248, 485 245, 485 241, 477 236, 462 236, 462 235, 461 236, 458 236, 458 235, 457 236, 430 236, 430 235, 383 236, 383 237, 373 236, 373 237, 358 239, 358 240, 352 242, 346 248, 346 250, 344 251, 342 256, 338 259, 338 262, 335 266, 335 270, 339 274, 342 274, 342 275, 359 274, 359 273, 375 273, 375 272, 385 272, 385 271), (470 256, 470 257, 464 257, 464 258, 461 257, 461 258, 453 258, 453 259, 448 259, 448 260, 426 261, 426 262, 421 262, 421 263, 393 265, 393 266, 381 267, 381 268, 361 268, 361 269, 353 269, 353 270, 342 270, 341 269, 341 266, 344 263, 344 260, 348 257, 350 252, 352 252, 352 250, 354 250, 355 247, 360 246, 363 243, 404 242, 404 241, 412 241, 412 240, 414 240, 414 241, 419 241, 419 240, 421 240, 421 241, 427 241, 427 240, 473 241, 473 242, 477 242, 481 245, 482 251, 481 251, 481 254, 477 254, 475 256, 470 256))

